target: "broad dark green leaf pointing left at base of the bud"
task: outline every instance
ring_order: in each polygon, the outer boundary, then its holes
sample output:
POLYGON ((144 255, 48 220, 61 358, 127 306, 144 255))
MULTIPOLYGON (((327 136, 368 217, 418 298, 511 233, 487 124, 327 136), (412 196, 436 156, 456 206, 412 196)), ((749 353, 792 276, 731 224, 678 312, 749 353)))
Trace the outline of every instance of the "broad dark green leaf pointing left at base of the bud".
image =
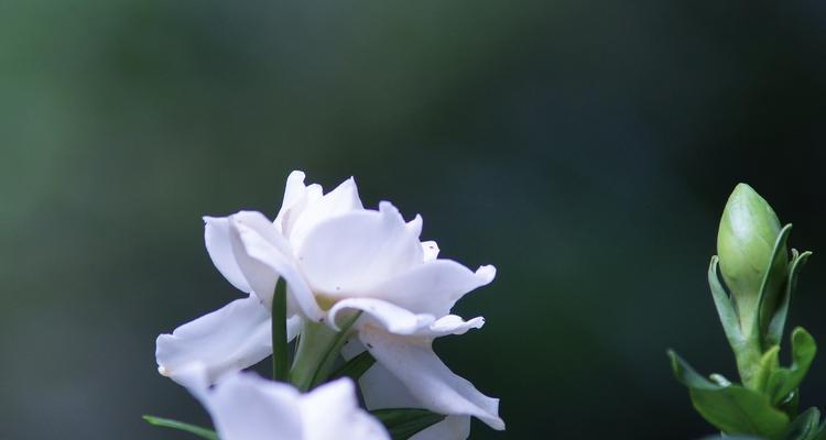
POLYGON ((688 387, 692 404, 709 424, 727 435, 782 439, 789 416, 771 406, 769 397, 739 385, 721 386, 699 375, 669 351, 674 376, 688 387))

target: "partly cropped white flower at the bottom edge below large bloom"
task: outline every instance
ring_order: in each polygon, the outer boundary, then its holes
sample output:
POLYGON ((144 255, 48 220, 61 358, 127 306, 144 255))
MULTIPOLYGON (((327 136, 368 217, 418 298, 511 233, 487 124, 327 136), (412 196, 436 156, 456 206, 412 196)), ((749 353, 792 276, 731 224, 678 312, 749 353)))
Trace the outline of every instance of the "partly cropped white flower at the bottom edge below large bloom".
MULTIPOLYGON (((191 373, 189 382, 198 382, 191 373)), ((191 392, 209 411, 221 440, 390 439, 381 422, 359 408, 348 378, 301 394, 254 373, 233 373, 211 389, 202 383, 191 392)))

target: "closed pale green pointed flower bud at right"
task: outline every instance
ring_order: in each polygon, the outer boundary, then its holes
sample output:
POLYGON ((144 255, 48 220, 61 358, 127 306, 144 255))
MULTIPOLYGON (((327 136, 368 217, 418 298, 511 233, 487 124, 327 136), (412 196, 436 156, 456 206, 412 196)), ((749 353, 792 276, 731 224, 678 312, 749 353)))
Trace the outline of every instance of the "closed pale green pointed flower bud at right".
MULTIPOLYGON (((780 235, 780 220, 759 194, 738 184, 728 198, 717 233, 720 273, 737 302, 740 324, 749 332, 754 324, 760 287, 780 235)), ((785 246, 770 268, 763 318, 771 316, 785 279, 789 255, 785 246)))

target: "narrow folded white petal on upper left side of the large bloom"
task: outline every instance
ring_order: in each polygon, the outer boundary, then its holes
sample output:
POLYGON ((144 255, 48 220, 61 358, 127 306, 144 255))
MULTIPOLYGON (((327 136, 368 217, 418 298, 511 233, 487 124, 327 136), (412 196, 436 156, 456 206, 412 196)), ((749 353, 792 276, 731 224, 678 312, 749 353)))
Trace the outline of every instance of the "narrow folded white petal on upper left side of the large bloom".
POLYGON ((242 211, 230 218, 232 250, 252 290, 272 304, 279 276, 284 277, 292 298, 305 317, 319 320, 324 312, 295 266, 290 244, 260 212, 242 211))

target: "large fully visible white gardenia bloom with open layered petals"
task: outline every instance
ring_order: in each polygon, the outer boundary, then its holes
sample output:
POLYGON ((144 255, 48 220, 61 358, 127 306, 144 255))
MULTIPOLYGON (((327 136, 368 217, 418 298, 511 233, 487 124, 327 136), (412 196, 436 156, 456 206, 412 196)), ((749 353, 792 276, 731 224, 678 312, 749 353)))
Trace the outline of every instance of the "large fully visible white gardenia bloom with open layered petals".
POLYGON ((474 272, 438 258, 436 243, 419 239, 420 216, 405 222, 387 201, 379 210, 365 209, 352 178, 323 195, 293 172, 274 221, 252 211, 204 220, 214 264, 249 296, 159 337, 161 373, 184 383, 183 372, 203 364, 215 382, 269 355, 269 310, 283 277, 293 316, 290 339, 301 319, 337 329, 339 315, 360 310, 358 339, 419 406, 504 429, 499 400, 454 374, 432 350, 435 338, 483 324, 482 318, 465 321, 449 312, 465 294, 493 279, 493 266, 474 272))

